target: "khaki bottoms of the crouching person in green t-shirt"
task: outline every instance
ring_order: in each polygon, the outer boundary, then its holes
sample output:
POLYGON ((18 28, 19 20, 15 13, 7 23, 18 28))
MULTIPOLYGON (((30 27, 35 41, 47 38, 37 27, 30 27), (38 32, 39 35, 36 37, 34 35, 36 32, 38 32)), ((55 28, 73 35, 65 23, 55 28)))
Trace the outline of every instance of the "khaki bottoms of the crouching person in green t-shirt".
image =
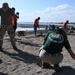
POLYGON ((44 49, 42 49, 39 53, 39 57, 42 59, 43 62, 47 62, 50 64, 59 64, 63 60, 63 54, 49 54, 44 49))

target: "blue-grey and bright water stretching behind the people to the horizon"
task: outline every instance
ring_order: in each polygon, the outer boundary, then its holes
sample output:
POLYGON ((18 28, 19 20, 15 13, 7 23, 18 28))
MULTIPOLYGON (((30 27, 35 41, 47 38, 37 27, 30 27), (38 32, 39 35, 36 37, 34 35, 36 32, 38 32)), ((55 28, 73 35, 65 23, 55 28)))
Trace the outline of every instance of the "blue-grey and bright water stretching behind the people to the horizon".
MULTIPOLYGON (((46 26, 47 26, 47 29, 49 29, 50 25, 55 25, 56 27, 57 26, 61 27, 62 23, 39 22, 40 29, 37 28, 37 30, 45 30, 46 26)), ((69 23, 68 25, 69 26, 75 26, 75 23, 69 23)), ((34 30, 33 22, 18 22, 17 29, 16 29, 16 31, 33 31, 33 30, 34 30)))

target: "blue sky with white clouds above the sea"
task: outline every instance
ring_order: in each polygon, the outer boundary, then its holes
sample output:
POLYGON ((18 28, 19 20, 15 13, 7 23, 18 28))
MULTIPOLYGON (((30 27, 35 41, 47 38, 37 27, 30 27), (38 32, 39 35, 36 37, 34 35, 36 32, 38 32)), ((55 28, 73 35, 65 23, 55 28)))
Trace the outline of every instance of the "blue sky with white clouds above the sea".
POLYGON ((19 12, 18 22, 75 22, 75 0, 0 0, 0 7, 7 2, 19 12))

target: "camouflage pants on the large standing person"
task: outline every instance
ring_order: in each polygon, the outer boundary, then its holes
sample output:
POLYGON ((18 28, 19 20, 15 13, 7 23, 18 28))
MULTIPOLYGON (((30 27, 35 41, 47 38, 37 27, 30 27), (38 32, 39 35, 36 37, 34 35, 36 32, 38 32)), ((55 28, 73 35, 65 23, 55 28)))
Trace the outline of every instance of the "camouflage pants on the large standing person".
POLYGON ((11 44, 15 45, 15 32, 13 30, 12 25, 1 25, 1 30, 0 30, 0 47, 2 47, 3 45, 3 37, 6 33, 6 31, 8 32, 8 35, 10 37, 11 40, 11 44))

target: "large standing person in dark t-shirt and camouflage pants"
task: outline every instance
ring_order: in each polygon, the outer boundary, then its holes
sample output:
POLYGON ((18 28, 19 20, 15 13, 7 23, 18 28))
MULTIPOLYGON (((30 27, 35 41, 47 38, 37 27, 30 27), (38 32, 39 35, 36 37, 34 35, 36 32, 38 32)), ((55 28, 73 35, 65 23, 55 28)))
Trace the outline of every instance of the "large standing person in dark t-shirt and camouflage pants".
POLYGON ((0 30, 0 50, 2 50, 3 45, 3 37, 5 32, 7 31, 9 37, 11 39, 11 44, 14 49, 15 46, 15 32, 12 26, 12 16, 15 17, 15 14, 11 8, 9 8, 8 3, 3 3, 2 8, 0 8, 0 16, 1 16, 1 30, 0 30))

